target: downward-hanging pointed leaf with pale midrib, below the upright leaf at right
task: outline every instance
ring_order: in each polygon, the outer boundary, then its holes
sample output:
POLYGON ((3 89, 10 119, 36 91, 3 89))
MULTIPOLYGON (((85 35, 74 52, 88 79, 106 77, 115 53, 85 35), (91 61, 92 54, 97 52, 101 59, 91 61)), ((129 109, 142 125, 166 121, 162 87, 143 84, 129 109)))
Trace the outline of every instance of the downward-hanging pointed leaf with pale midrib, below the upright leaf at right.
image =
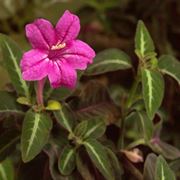
POLYGON ((153 119, 164 96, 164 79, 154 70, 142 69, 143 99, 150 119, 153 119))

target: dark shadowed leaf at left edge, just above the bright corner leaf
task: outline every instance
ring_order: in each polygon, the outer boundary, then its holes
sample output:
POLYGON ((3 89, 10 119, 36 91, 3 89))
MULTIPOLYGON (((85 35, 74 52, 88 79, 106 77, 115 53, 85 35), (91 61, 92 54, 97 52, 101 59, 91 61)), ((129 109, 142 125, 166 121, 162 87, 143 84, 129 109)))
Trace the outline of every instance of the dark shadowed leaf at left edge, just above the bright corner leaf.
POLYGON ((16 149, 20 134, 16 130, 8 130, 0 136, 0 161, 8 157, 16 149))

